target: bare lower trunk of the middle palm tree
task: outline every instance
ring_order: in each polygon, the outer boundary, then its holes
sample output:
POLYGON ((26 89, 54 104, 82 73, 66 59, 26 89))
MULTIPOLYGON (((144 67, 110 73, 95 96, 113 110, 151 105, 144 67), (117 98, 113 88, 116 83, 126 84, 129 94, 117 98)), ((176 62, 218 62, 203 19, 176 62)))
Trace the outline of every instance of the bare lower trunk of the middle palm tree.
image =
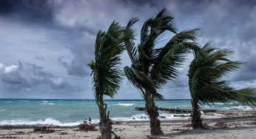
POLYGON ((151 135, 164 135, 158 119, 158 107, 155 106, 153 99, 151 100, 151 103, 146 103, 146 113, 149 115, 151 135))

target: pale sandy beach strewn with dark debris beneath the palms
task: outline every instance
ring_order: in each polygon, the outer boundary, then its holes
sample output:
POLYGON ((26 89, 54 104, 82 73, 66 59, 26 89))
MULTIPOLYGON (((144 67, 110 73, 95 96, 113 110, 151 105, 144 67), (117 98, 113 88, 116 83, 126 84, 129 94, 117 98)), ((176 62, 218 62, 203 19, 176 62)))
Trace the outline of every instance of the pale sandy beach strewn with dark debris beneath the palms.
MULTIPOLYGON (((256 138, 255 110, 229 110, 202 115, 207 129, 194 129, 190 119, 161 121, 164 135, 151 136, 149 121, 114 121, 121 138, 256 138)), ((99 138, 99 131, 78 131, 78 126, 49 126, 51 133, 34 132, 37 126, 0 126, 0 138, 99 138)), ((96 127, 98 129, 98 127, 96 127)))

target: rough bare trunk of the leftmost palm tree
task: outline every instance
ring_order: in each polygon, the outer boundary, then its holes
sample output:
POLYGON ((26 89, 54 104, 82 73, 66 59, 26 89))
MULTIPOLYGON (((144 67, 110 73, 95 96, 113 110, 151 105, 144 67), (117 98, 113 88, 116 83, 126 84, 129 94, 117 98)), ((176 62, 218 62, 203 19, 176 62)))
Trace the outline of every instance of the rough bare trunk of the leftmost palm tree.
POLYGON ((109 118, 110 112, 107 113, 107 104, 98 105, 98 109, 100 112, 100 131, 102 139, 111 139, 111 129, 112 129, 112 121, 109 118))

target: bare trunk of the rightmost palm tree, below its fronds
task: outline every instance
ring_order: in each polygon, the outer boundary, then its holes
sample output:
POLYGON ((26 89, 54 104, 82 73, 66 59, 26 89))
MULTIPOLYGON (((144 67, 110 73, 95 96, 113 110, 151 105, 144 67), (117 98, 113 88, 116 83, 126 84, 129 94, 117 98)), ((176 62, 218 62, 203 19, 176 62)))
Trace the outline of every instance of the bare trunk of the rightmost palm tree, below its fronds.
POLYGON ((198 110, 198 101, 192 98, 192 127, 193 129, 202 128, 201 113, 198 110))

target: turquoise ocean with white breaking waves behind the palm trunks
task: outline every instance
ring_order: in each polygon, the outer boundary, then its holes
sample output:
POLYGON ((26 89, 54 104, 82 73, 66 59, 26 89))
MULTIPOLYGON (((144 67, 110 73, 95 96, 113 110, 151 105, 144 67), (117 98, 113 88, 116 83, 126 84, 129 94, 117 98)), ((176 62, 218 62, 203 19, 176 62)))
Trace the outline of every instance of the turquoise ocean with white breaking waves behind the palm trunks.
MULTIPOLYGON (((148 121, 143 111, 135 106, 144 106, 142 100, 108 100, 107 109, 113 121, 148 121)), ((190 100, 156 101, 158 107, 191 109, 190 100)), ((236 102, 216 103, 215 106, 201 106, 201 109, 255 109, 236 102)), ((171 120, 177 114, 159 112, 160 119, 171 120)), ((36 125, 53 124, 58 126, 75 126, 85 118, 98 122, 98 107, 93 100, 39 100, 39 99, 0 99, 0 125, 36 125)), ((185 117, 187 118, 187 117, 185 117)))

